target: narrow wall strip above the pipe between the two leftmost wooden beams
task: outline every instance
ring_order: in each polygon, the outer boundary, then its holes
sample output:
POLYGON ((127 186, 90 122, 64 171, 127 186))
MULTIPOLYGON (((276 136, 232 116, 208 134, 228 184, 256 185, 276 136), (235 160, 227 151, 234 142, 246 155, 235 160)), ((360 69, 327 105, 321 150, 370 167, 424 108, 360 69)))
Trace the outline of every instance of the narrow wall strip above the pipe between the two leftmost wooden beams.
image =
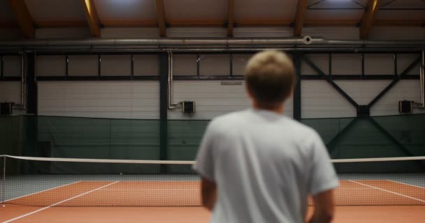
POLYGON ((42 28, 36 29, 36 39, 91 38, 88 27, 42 28))

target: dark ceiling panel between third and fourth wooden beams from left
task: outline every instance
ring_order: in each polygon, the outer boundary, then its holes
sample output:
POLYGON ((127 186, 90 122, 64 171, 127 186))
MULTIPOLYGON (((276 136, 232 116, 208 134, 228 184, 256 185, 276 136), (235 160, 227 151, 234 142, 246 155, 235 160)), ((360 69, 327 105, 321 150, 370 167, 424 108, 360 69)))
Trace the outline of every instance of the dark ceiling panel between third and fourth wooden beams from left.
POLYGON ((228 17, 228 0, 164 0, 166 22, 215 20, 224 24, 228 17))

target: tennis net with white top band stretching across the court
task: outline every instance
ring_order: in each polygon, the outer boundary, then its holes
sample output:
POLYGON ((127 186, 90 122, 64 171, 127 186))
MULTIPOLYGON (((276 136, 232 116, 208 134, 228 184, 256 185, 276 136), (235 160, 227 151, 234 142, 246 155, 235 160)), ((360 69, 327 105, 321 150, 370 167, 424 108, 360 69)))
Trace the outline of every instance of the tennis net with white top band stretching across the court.
MULTIPOLYGON (((425 157, 332 160, 338 206, 425 205, 425 157)), ((23 206, 200 206, 192 161, 2 155, 1 202, 23 206)), ((309 202, 311 205, 311 201, 309 202)))

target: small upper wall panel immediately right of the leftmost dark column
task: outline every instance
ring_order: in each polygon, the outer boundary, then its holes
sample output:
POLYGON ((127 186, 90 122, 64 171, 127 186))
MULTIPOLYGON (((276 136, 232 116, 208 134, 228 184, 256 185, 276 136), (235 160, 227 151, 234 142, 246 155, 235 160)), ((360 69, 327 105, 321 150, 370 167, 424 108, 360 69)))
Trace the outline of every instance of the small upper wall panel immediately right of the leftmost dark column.
POLYGON ((43 76, 62 76, 66 74, 66 56, 41 55, 36 59, 36 74, 43 76))

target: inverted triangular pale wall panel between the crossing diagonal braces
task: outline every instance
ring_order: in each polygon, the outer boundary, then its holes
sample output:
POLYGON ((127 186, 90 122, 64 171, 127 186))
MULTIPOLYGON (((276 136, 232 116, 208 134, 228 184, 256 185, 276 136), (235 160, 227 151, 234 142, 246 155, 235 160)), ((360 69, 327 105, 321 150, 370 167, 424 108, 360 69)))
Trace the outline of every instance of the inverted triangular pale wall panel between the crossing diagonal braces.
POLYGON ((368 105, 391 80, 336 80, 341 89, 359 105, 368 105))

